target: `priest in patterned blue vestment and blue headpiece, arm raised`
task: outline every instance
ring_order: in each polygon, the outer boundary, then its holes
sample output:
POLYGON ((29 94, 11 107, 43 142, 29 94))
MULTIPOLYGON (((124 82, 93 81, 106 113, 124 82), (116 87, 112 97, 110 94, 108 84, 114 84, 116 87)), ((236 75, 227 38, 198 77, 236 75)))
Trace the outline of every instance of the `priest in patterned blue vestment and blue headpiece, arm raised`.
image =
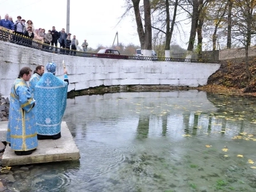
POLYGON ((56 64, 48 63, 46 71, 35 86, 36 130, 38 140, 61 138, 61 118, 67 105, 68 77, 55 76, 56 64))

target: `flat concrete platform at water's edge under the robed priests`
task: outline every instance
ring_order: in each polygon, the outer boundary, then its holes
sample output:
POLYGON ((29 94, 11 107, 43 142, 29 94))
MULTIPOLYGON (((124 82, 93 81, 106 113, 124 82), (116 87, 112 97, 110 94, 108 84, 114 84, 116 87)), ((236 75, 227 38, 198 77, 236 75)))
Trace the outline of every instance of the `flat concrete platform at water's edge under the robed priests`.
MULTIPOLYGON (((0 122, 0 138, 4 137, 4 129, 6 135, 7 124, 8 122, 0 122)), ((17 156, 9 146, 6 146, 1 159, 1 166, 70 161, 77 159, 80 159, 80 154, 76 143, 68 130, 66 122, 61 122, 61 138, 58 140, 38 140, 38 147, 33 154, 29 156, 17 156)))

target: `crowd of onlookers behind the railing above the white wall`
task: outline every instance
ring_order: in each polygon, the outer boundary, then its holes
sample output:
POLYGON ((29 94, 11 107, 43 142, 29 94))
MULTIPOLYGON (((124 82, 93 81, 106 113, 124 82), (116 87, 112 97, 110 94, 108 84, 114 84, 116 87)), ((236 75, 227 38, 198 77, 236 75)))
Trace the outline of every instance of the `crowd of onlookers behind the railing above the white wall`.
MULTIPOLYGON (((4 16, 4 19, 1 19, 0 16, 0 26, 3 28, 12 30, 13 33, 17 35, 24 35, 33 40, 42 41, 47 45, 52 45, 58 47, 58 43, 61 48, 77 50, 77 46, 79 45, 78 40, 76 39, 76 35, 73 35, 71 38, 71 33, 66 33, 65 29, 62 28, 61 31, 57 31, 55 26, 52 26, 52 29, 49 29, 45 33, 45 29, 38 28, 35 29, 35 26, 32 20, 25 20, 22 17, 18 16, 15 22, 12 20, 12 17, 9 17, 8 14, 4 16)), ((84 40, 81 45, 84 52, 87 52, 88 43, 84 40)))

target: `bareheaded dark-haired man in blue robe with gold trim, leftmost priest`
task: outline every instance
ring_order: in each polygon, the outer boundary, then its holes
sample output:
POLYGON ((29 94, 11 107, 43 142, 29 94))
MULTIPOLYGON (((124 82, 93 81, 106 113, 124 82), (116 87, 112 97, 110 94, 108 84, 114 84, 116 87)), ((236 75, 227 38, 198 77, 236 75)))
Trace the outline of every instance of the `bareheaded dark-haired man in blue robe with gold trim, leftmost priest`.
POLYGON ((6 142, 17 155, 29 155, 38 146, 34 106, 26 81, 31 77, 31 68, 20 69, 19 77, 10 93, 9 122, 6 142))

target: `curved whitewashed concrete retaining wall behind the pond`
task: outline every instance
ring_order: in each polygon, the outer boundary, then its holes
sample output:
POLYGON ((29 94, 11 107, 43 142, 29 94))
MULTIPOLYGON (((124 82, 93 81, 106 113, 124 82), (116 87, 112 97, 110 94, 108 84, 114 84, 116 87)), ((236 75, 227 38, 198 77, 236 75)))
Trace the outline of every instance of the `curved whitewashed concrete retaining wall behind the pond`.
POLYGON ((132 61, 65 56, 0 41, 0 93, 10 94, 12 83, 22 67, 31 67, 35 70, 36 65, 46 65, 53 61, 58 66, 56 75, 63 78, 63 60, 65 60, 70 81, 68 91, 100 85, 127 84, 196 87, 207 84, 208 77, 220 68, 220 64, 216 63, 132 61))

